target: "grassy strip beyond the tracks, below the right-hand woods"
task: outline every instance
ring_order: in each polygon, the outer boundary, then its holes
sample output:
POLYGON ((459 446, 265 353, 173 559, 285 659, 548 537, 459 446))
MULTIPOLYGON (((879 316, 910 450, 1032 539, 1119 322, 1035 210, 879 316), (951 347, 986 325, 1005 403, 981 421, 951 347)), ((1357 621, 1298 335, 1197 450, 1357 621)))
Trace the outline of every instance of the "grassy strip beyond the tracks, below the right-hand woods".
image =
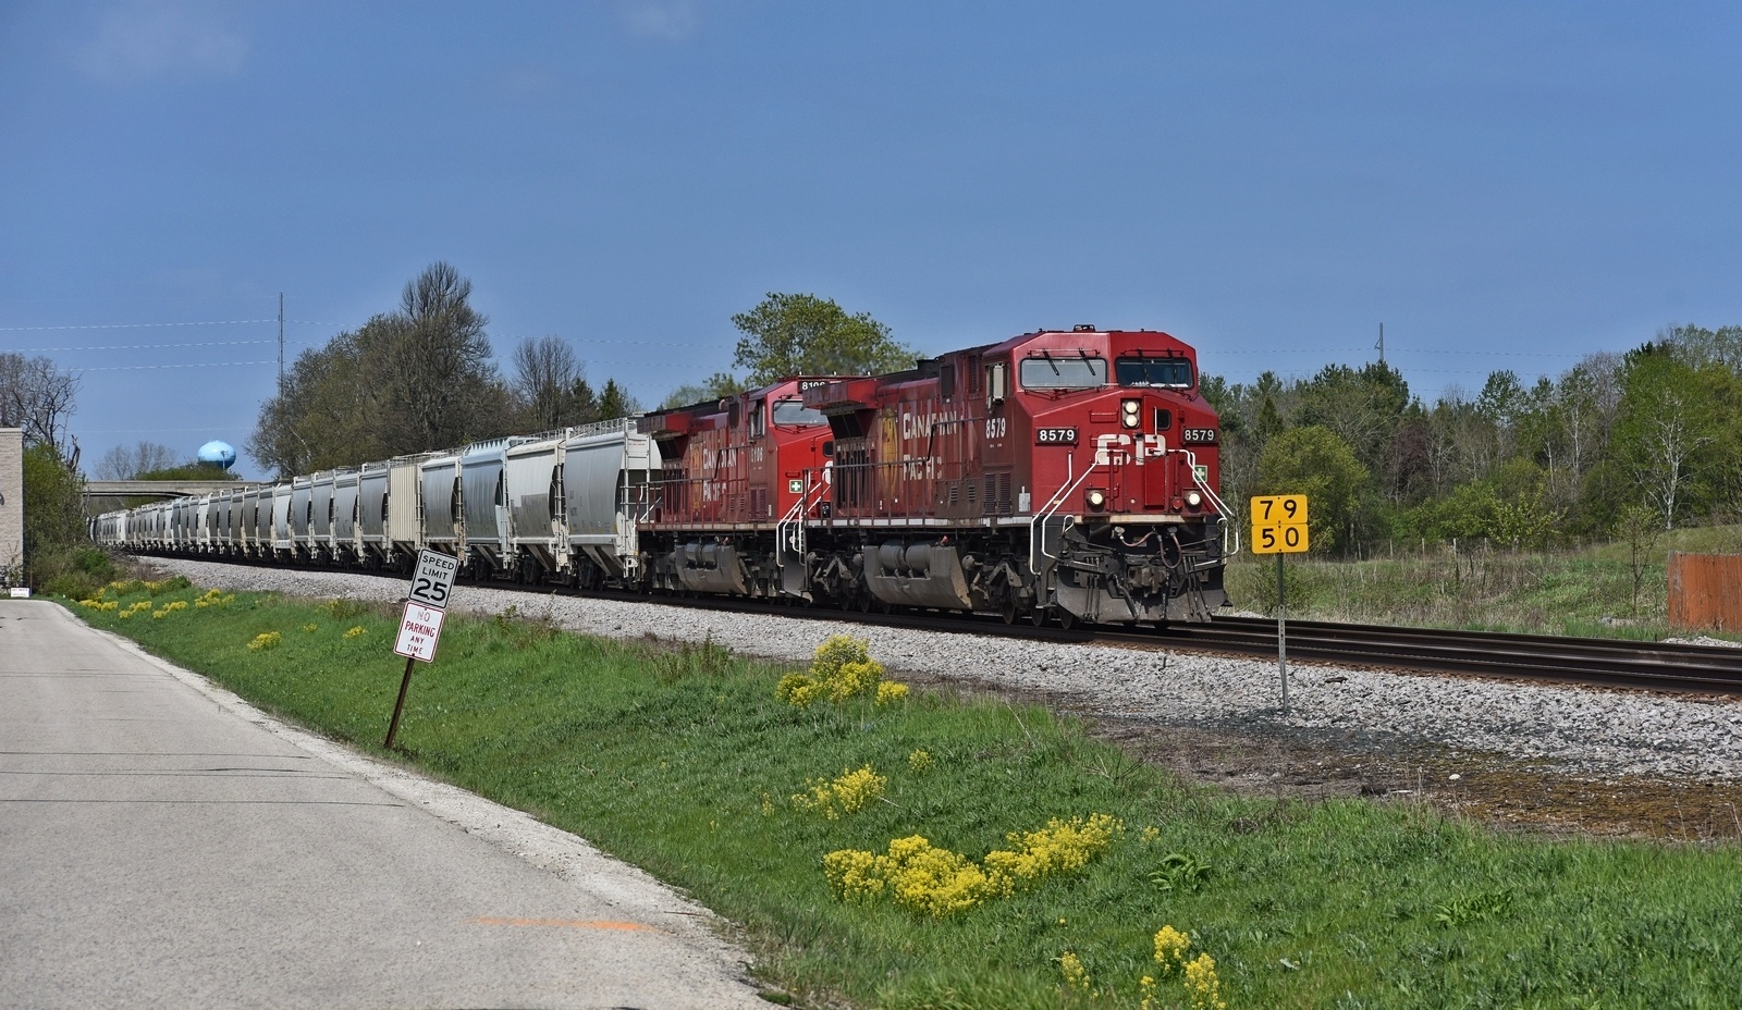
MULTIPOLYGON (((1291 616, 1469 630, 1512 630, 1657 641, 1669 627, 1669 552, 1742 552, 1742 528, 1662 535, 1636 571, 1627 543, 1554 552, 1425 550, 1362 561, 1291 556, 1284 599, 1291 616)), ((1242 554, 1228 566, 1233 604, 1275 611, 1272 557, 1242 554)))

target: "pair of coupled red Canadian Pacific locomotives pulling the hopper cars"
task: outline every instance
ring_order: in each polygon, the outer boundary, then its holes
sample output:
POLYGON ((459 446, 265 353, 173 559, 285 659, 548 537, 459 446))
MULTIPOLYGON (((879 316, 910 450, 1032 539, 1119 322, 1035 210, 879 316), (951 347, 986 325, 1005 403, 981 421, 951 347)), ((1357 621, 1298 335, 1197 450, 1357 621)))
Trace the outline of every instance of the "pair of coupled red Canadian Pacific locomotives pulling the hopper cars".
POLYGON ((1216 413, 1153 331, 1040 331, 873 378, 655 413, 655 589, 1205 620, 1223 592, 1216 413))

